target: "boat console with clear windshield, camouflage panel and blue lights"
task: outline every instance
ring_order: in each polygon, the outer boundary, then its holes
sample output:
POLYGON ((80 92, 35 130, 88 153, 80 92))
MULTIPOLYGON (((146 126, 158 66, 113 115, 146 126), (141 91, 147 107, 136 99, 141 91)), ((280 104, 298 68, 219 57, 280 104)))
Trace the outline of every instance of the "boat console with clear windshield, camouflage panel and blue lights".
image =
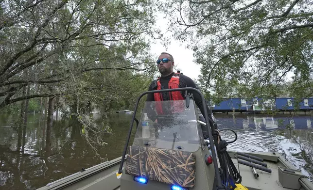
POLYGON ((185 100, 145 102, 133 144, 127 146, 121 189, 216 189, 216 155, 207 148, 198 118, 192 96, 185 100), (149 137, 142 135, 145 113, 149 118, 149 137))

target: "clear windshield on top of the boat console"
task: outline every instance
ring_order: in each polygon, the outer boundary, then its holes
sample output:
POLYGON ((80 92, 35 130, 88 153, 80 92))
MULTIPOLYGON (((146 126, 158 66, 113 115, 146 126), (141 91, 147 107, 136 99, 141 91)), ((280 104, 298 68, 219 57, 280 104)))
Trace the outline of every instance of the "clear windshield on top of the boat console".
POLYGON ((197 122, 197 111, 193 100, 188 108, 185 101, 146 102, 133 145, 188 152, 198 150, 203 136, 197 122), (145 121, 147 117, 149 125, 145 121))

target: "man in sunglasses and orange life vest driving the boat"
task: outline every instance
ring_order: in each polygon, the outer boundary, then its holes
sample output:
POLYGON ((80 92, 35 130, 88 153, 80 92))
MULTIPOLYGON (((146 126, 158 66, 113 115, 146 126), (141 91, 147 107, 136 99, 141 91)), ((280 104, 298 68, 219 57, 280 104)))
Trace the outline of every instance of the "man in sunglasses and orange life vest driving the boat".
MULTIPOLYGON (((187 77, 186 75, 181 74, 180 72, 174 73, 174 58, 171 54, 162 52, 157 61, 157 67, 159 72, 161 73, 161 77, 154 80, 150 86, 148 91, 151 90, 161 90, 161 89, 173 89, 173 88, 184 88, 191 87, 197 88, 194 81, 187 77)), ((202 98, 199 94, 193 93, 189 91, 189 93, 193 94, 194 101, 198 108, 200 109, 202 115, 204 115, 203 104, 206 102, 202 102, 202 98)), ((155 93, 148 94, 147 101, 166 101, 166 100, 184 100, 185 99, 185 91, 176 91, 176 92, 166 92, 166 93, 155 93)), ((210 119, 212 118, 212 111, 209 109, 206 104, 208 116, 210 119)), ((154 119, 154 118, 151 118, 154 119)))

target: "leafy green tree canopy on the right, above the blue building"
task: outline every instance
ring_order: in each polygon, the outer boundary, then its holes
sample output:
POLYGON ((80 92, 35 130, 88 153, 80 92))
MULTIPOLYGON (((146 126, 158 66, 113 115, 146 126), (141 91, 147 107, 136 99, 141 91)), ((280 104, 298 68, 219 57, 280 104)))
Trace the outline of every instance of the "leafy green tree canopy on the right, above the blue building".
POLYGON ((189 40, 207 97, 313 95, 312 0, 167 0, 171 30, 189 40), (210 93, 211 92, 211 93, 210 93), (300 95, 301 94, 301 95, 300 95))

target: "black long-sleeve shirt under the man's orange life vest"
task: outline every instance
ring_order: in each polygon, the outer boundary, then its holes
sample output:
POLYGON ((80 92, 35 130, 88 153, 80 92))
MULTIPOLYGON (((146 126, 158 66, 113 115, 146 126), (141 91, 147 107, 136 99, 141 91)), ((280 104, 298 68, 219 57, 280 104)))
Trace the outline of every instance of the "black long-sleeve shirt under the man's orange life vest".
MULTIPOLYGON (((160 79, 161 89, 169 89, 168 83, 169 83, 170 79, 173 77, 173 75, 174 75, 174 72, 169 76, 161 77, 161 79, 160 79)), ((154 87, 154 84, 152 82, 149 86, 148 91, 156 90, 156 87, 155 87, 155 89, 153 89, 153 87, 154 87)), ((198 89, 196 84, 193 82, 193 80, 191 78, 181 74, 179 77, 179 88, 184 88, 184 87, 191 87, 191 88, 198 89)), ((193 94, 194 101, 195 101, 196 105, 200 109, 202 115, 204 115, 203 104, 206 104, 206 103, 202 102, 202 98, 198 93, 195 93, 192 90, 189 90, 188 92, 193 94)), ((185 91, 180 91, 180 93, 183 95, 183 97, 185 97, 185 91)), ((163 97, 163 100, 165 100, 165 101, 170 100, 170 93, 169 92, 162 93, 162 97, 163 97)), ((147 95, 147 101, 155 101, 154 95, 148 94, 147 95)), ((211 118, 212 112, 209 109, 207 104, 206 104, 206 108, 208 111, 208 116, 209 116, 209 118, 211 118)))

